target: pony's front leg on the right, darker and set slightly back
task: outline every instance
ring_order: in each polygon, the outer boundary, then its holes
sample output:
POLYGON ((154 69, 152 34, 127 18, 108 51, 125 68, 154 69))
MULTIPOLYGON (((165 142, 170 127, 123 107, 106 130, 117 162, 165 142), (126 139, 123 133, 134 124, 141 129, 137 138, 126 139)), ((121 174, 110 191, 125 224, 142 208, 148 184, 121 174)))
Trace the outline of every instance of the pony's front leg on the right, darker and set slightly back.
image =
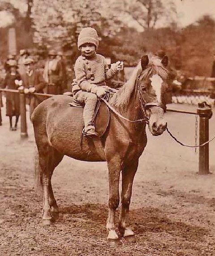
POLYGON ((121 208, 120 208, 120 224, 119 230, 122 236, 128 237, 134 235, 129 227, 129 206, 132 194, 133 178, 138 168, 138 159, 132 163, 125 165, 122 170, 122 192, 121 192, 121 208))

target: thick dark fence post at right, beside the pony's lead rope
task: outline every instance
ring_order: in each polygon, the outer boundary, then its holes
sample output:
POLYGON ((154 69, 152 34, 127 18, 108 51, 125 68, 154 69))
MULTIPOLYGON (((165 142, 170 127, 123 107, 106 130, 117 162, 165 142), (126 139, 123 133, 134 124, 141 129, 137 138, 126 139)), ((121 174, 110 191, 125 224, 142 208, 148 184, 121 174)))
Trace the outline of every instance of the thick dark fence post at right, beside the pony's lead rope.
MULTIPOLYGON (((198 106, 199 144, 209 140, 209 119, 212 116, 211 106, 201 103, 198 106)), ((198 174, 209 174, 209 144, 199 147, 198 174)))

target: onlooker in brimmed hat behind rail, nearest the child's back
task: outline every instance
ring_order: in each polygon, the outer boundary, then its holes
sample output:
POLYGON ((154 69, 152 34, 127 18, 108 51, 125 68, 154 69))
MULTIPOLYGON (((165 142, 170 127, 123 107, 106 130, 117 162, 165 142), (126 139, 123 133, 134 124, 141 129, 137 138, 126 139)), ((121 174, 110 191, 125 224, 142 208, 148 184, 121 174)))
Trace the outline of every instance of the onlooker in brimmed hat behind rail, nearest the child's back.
POLYGON ((50 94, 60 94, 62 76, 63 68, 57 58, 57 52, 55 50, 50 50, 43 71, 43 78, 47 82, 45 92, 50 94))

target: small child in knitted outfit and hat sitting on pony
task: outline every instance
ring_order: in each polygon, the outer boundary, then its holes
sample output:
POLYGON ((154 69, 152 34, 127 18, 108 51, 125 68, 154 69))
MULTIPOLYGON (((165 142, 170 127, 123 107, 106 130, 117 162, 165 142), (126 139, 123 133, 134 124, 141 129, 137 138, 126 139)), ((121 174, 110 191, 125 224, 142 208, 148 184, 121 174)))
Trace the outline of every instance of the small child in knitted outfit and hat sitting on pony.
POLYGON ((123 69, 121 62, 112 64, 108 69, 105 58, 96 54, 99 45, 99 37, 94 28, 86 27, 80 32, 77 47, 82 55, 75 62, 75 77, 77 84, 73 86, 73 97, 85 103, 84 107, 84 130, 87 136, 97 135, 95 126, 91 124, 95 112, 97 97, 103 97, 107 89, 105 80, 111 79, 117 71, 123 69))

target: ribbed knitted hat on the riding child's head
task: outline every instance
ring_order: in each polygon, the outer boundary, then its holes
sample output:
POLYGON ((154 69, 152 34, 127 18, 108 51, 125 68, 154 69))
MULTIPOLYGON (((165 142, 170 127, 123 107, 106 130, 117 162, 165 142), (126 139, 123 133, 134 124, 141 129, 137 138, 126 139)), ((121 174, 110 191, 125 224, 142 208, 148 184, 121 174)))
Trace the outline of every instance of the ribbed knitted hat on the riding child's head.
POLYGON ((77 48, 80 50, 82 44, 94 44, 97 48, 99 45, 99 37, 96 30, 92 27, 82 29, 77 39, 77 48))

